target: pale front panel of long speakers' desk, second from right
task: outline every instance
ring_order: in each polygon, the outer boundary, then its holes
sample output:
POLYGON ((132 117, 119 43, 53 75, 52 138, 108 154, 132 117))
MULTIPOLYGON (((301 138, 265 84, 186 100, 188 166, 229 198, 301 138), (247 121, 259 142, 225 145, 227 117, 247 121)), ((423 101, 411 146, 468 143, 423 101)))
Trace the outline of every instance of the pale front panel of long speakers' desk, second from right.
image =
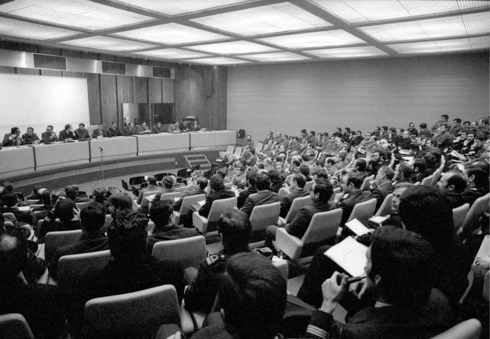
POLYGON ((138 155, 189 150, 189 134, 159 133, 137 135, 138 155))

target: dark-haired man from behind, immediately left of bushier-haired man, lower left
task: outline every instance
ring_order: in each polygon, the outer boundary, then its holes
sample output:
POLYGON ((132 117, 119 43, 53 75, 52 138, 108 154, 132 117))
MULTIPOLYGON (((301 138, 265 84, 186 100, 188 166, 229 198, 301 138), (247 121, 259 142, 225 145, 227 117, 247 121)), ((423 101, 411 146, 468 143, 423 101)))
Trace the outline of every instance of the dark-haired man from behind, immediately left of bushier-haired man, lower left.
POLYGON ((58 260, 64 255, 104 251, 109 249, 109 243, 100 232, 105 221, 105 208, 98 202, 91 202, 80 211, 80 227, 82 235, 78 242, 58 247, 56 255, 48 263, 49 276, 58 277, 58 260))

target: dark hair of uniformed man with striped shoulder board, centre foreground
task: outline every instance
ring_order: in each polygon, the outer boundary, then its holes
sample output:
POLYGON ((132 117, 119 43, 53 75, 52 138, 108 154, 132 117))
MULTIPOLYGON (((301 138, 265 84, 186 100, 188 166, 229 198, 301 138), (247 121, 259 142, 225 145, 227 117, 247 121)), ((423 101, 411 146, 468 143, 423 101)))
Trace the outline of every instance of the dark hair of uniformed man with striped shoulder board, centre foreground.
POLYGON ((218 232, 223 239, 223 247, 226 255, 240 252, 248 252, 248 242, 252 226, 245 212, 234 208, 223 211, 218 220, 218 232))

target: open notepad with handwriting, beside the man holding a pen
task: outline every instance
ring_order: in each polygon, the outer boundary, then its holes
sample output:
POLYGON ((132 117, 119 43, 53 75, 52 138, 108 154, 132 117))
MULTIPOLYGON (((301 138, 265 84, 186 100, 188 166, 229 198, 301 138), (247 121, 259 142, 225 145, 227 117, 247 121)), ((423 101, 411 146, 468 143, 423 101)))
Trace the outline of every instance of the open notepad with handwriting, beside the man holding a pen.
POLYGON ((366 252, 368 247, 351 237, 345 238, 342 242, 330 247, 324 254, 341 266, 353 277, 358 277, 364 273, 364 267, 368 259, 366 252))

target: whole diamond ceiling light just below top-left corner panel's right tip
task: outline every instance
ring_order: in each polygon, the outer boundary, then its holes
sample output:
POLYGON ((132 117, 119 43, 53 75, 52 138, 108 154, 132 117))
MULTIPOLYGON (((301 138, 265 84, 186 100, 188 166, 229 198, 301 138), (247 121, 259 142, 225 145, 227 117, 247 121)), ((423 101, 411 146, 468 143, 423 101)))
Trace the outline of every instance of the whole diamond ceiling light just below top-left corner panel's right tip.
POLYGON ((208 32, 202 29, 184 26, 183 24, 161 24, 145 28, 133 29, 114 35, 133 39, 158 42, 161 44, 178 45, 202 41, 230 39, 226 35, 208 32))

